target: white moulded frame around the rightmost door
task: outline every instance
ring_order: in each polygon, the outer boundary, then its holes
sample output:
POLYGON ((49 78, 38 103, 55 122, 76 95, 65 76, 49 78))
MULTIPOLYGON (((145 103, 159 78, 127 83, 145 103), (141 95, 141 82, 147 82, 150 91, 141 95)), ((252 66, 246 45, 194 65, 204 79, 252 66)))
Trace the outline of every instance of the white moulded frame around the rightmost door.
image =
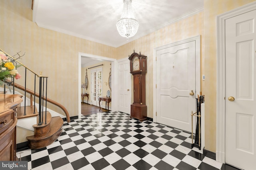
POLYGON ((216 161, 225 163, 225 20, 256 10, 256 2, 217 16, 216 161))

